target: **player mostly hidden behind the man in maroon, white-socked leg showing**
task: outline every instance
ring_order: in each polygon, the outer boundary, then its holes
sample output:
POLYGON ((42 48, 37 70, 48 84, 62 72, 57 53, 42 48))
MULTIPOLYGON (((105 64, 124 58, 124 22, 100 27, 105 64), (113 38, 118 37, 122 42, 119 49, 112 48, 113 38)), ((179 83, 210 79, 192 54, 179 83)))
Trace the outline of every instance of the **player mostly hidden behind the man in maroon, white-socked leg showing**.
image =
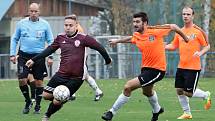
MULTIPOLYGON (((72 14, 71 16, 73 16, 74 18, 77 19, 77 16, 75 14, 72 14)), ((78 32, 84 33, 84 29, 81 27, 81 25, 78 23, 78 32)), ((89 75, 89 73, 87 72, 86 74, 86 79, 85 81, 89 84, 89 86, 95 91, 95 98, 94 101, 99 101, 101 99, 101 97, 103 96, 103 92, 102 90, 98 87, 98 85, 96 84, 95 79, 89 75)), ((76 96, 75 93, 71 96, 70 100, 75 100, 76 96)))

